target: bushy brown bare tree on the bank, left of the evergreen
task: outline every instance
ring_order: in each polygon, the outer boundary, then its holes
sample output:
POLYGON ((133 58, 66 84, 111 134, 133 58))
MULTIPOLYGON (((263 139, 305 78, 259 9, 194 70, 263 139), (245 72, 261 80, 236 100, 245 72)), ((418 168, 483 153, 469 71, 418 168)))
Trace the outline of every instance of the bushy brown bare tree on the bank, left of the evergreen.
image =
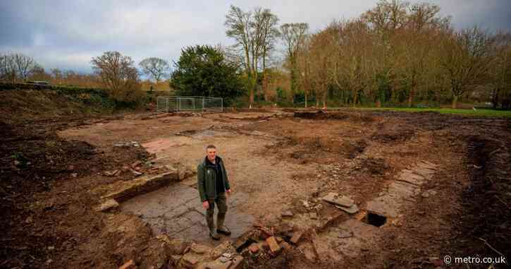
POLYGON ((134 61, 120 52, 104 52, 92 58, 92 68, 118 101, 133 102, 140 97, 140 83, 134 61))

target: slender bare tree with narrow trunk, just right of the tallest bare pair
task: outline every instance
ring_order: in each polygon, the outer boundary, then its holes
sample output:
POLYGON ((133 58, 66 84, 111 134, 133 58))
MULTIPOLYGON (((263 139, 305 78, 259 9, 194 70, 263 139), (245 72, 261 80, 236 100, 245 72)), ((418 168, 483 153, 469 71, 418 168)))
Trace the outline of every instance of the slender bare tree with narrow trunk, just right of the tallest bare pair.
POLYGON ((297 86, 297 65, 296 54, 300 45, 303 44, 307 35, 309 24, 307 23, 285 23, 281 25, 281 37, 285 43, 291 73, 291 101, 294 102, 297 86))

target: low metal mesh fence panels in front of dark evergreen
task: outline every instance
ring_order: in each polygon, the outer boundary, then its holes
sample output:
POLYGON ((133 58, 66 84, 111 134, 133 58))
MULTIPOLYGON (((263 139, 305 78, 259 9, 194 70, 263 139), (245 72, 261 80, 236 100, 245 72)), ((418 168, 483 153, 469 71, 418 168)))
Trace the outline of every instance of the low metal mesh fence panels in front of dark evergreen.
POLYGON ((223 112, 223 99, 204 96, 159 96, 156 112, 223 112))

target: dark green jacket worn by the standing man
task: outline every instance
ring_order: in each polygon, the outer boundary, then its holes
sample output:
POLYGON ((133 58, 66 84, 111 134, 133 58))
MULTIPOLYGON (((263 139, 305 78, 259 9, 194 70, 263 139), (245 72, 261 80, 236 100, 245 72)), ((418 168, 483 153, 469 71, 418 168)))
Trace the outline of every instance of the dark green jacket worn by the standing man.
MULTIPOLYGON (((197 165, 197 187, 199 189, 200 200, 207 201, 208 198, 216 198, 216 169, 214 165, 207 162, 207 156, 199 165, 197 165)), ((229 180, 227 178, 226 167, 223 166, 221 157, 216 156, 216 161, 222 169, 223 186, 226 190, 230 189, 229 180)))

